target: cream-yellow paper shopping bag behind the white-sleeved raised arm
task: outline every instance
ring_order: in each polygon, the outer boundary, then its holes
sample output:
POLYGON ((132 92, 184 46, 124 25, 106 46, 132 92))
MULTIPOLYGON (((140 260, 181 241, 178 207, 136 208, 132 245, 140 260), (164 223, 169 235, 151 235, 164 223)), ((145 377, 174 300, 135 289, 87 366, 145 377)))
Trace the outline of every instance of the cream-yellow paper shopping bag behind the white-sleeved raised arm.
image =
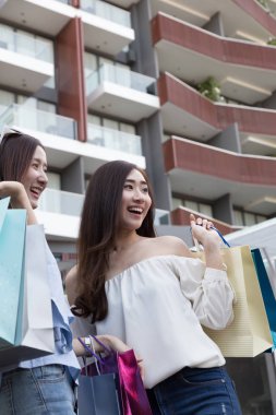
MULTIPOLYGON (((193 252, 204 261, 204 252, 193 252)), ((235 319, 224 330, 203 328, 225 357, 254 357, 272 347, 273 340, 256 270, 249 246, 223 248, 221 257, 236 293, 235 319)))

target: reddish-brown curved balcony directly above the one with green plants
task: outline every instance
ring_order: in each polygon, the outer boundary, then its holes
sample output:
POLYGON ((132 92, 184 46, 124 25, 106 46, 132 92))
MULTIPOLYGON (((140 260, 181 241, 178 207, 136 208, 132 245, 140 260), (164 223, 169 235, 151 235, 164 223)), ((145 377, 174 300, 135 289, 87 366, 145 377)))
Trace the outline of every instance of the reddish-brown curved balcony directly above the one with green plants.
POLYGON ((160 72, 196 85, 213 75, 221 95, 255 104, 275 90, 276 48, 214 35, 158 14, 152 22, 160 72))

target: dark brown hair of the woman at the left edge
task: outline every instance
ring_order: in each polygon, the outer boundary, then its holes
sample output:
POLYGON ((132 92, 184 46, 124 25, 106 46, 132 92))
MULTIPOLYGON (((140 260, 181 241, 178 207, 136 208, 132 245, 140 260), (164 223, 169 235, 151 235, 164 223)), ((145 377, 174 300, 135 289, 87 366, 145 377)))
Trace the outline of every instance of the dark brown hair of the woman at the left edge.
POLYGON ((27 171, 39 140, 20 131, 8 132, 0 143, 0 180, 21 181, 27 171))

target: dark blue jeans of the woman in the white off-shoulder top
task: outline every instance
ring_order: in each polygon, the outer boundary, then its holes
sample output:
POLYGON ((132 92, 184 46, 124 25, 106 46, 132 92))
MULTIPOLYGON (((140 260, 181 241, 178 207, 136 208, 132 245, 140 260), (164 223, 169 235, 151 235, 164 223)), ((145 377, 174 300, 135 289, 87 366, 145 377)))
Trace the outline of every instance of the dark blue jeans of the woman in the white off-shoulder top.
POLYGON ((223 367, 184 368, 147 391, 154 415, 241 415, 223 367))

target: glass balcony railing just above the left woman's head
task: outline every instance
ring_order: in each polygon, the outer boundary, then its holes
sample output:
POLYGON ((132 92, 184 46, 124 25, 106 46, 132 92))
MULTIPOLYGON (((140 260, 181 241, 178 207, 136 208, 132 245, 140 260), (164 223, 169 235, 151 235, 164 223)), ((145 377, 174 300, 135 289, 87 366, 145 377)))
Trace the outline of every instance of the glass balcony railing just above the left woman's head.
POLYGON ((76 139, 76 121, 57 114, 34 109, 26 105, 10 105, 0 114, 0 130, 3 126, 14 126, 62 138, 76 139))

